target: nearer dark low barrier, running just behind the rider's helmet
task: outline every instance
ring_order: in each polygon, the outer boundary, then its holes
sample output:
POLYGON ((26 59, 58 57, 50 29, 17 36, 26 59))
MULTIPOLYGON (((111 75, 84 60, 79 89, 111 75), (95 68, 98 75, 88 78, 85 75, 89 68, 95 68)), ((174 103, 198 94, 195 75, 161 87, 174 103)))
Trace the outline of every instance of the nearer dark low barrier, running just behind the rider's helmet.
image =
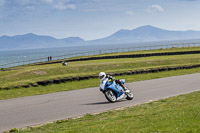
MULTIPOLYGON (((144 70, 133 70, 128 72, 118 72, 118 73, 107 73, 111 76, 119 76, 119 75, 135 75, 135 74, 145 74, 145 73, 157 73, 157 72, 163 72, 163 71, 171 71, 171 70, 180 70, 180 69, 192 69, 192 68, 198 68, 200 67, 200 64, 198 65, 189 65, 189 66, 177 66, 177 67, 162 67, 162 68, 156 68, 156 69, 144 69, 144 70)), ((45 80, 45 81, 38 81, 35 84, 28 84, 28 85, 22 85, 22 86, 15 86, 14 88, 19 87, 37 87, 38 85, 46 86, 51 84, 60 84, 65 82, 71 82, 71 81, 80 81, 80 80, 87 80, 87 79, 93 79, 98 78, 98 75, 90 75, 90 76, 82 76, 82 77, 67 77, 62 79, 53 79, 53 80, 45 80)), ((9 90, 10 88, 0 88, 1 90, 9 90)))

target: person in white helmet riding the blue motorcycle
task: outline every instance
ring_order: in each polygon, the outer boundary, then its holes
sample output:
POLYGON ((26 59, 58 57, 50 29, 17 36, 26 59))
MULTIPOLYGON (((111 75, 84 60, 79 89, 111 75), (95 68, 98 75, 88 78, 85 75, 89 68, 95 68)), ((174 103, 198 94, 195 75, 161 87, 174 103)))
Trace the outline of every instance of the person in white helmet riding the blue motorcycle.
POLYGON ((115 80, 115 78, 113 78, 110 75, 106 75, 105 72, 100 72, 99 73, 99 79, 101 80, 100 83, 100 91, 104 91, 104 87, 106 86, 106 84, 110 81, 115 81, 117 84, 119 84, 124 91, 126 91, 126 88, 124 87, 124 85, 120 82, 120 80, 115 80))

